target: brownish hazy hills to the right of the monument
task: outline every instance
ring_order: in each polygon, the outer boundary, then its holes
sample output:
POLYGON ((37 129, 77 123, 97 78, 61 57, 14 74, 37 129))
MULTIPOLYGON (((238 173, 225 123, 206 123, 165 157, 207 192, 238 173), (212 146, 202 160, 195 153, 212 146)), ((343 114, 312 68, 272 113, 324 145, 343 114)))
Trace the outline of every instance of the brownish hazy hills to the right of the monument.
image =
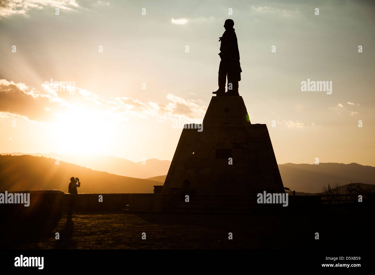
POLYGON ((317 193, 327 183, 375 184, 375 167, 356 163, 279 164, 284 187, 299 192, 317 193))

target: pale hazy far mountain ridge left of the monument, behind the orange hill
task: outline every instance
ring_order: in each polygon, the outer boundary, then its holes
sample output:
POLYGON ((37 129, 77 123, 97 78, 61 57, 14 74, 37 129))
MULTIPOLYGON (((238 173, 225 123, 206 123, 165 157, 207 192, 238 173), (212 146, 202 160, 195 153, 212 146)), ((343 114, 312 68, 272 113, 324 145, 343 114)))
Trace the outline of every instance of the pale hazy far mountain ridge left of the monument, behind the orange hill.
POLYGON ((115 156, 57 153, 1 153, 1 155, 7 154, 12 156, 44 156, 46 158, 59 159, 60 161, 88 167, 97 171, 133 178, 149 178, 155 175, 167 174, 169 165, 171 165, 171 161, 160 161, 159 159, 147 159, 145 164, 142 164, 142 161, 132 162, 115 156))

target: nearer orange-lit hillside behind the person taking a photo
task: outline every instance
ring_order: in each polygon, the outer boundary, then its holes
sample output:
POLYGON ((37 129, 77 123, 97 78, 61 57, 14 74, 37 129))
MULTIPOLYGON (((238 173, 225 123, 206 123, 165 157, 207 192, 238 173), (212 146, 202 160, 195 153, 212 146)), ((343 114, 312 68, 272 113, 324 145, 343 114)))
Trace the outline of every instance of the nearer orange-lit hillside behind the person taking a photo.
POLYGON ((159 181, 123 177, 55 159, 0 155, 0 190, 58 189, 68 192, 71 177, 78 177, 78 193, 153 193, 159 181))

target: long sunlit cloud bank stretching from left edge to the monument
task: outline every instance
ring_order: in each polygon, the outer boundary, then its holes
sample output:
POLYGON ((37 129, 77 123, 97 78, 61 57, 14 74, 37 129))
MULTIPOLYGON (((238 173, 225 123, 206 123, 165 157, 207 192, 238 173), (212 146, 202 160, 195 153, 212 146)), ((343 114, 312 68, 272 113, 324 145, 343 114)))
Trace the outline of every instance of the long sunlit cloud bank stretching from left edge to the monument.
POLYGON ((176 117, 201 119, 206 107, 198 100, 186 100, 173 94, 166 96, 166 103, 141 102, 129 97, 100 98, 98 95, 75 87, 71 94, 62 84, 42 84, 42 91, 0 80, 0 117, 13 117, 34 122, 55 122, 59 119, 95 119, 128 121, 154 117, 168 121, 176 117), (198 103, 197 103, 198 102, 198 103))

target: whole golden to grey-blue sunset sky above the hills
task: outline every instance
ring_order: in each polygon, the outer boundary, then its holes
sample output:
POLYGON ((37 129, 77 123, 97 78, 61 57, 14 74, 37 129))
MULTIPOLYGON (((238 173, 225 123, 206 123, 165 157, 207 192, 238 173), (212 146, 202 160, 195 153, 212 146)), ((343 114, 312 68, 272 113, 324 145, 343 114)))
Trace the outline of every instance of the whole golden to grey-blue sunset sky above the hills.
POLYGON ((218 38, 231 18, 239 93, 251 122, 267 124, 278 163, 375 166, 374 9, 373 1, 2 1, 0 152, 171 160, 182 131, 175 120, 199 122, 217 89, 218 38), (332 81, 332 94, 301 91, 308 79, 332 81))

